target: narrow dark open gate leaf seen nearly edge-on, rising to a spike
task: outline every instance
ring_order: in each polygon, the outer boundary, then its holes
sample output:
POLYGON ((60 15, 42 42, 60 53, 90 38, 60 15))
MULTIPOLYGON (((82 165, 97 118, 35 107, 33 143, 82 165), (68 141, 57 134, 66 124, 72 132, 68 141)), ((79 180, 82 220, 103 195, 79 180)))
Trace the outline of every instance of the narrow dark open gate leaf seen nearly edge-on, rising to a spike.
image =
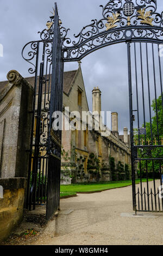
POLYGON ((52 125, 54 121, 54 112, 62 112, 64 62, 62 60, 60 21, 56 3, 54 16, 54 38, 52 47, 52 89, 51 102, 49 107, 49 161, 46 205, 48 219, 54 214, 54 211, 59 208, 60 202, 61 130, 55 130, 52 125))

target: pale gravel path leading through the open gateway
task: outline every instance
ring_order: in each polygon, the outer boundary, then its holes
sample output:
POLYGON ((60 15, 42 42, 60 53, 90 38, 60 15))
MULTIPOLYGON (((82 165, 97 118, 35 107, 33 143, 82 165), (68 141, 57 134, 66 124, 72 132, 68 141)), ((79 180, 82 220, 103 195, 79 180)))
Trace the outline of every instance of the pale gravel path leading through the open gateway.
POLYGON ((131 186, 61 199, 60 208, 36 245, 163 245, 163 214, 134 217, 131 186))

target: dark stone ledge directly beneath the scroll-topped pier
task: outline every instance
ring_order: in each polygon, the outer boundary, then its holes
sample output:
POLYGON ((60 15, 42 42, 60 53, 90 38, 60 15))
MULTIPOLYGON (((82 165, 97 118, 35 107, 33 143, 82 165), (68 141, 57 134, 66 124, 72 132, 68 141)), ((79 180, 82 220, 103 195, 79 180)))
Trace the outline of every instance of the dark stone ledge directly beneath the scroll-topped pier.
POLYGON ((9 178, 9 179, 0 179, 0 185, 4 190, 16 190, 19 188, 26 187, 26 178, 9 178))

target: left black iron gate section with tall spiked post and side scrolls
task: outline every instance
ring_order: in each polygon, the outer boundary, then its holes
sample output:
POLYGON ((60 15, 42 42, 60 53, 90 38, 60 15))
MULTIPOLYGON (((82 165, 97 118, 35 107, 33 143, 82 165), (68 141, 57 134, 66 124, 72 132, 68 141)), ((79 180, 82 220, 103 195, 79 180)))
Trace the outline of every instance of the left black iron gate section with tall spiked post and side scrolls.
POLYGON ((40 33, 41 40, 29 42, 22 51, 23 58, 33 65, 30 74, 35 73, 27 209, 46 204, 47 219, 60 201, 61 131, 52 127, 53 113, 62 112, 64 74, 57 4, 54 14, 47 22, 48 30, 40 33), (32 51, 25 57, 28 47, 32 51))

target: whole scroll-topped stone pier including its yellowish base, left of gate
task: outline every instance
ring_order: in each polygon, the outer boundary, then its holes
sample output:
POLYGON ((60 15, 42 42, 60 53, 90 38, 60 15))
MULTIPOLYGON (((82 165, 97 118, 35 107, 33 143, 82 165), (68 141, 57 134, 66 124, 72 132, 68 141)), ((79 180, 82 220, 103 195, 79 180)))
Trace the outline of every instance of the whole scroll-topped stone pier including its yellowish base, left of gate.
POLYGON ((33 87, 11 70, 0 94, 0 241, 21 221, 26 193, 33 87))

